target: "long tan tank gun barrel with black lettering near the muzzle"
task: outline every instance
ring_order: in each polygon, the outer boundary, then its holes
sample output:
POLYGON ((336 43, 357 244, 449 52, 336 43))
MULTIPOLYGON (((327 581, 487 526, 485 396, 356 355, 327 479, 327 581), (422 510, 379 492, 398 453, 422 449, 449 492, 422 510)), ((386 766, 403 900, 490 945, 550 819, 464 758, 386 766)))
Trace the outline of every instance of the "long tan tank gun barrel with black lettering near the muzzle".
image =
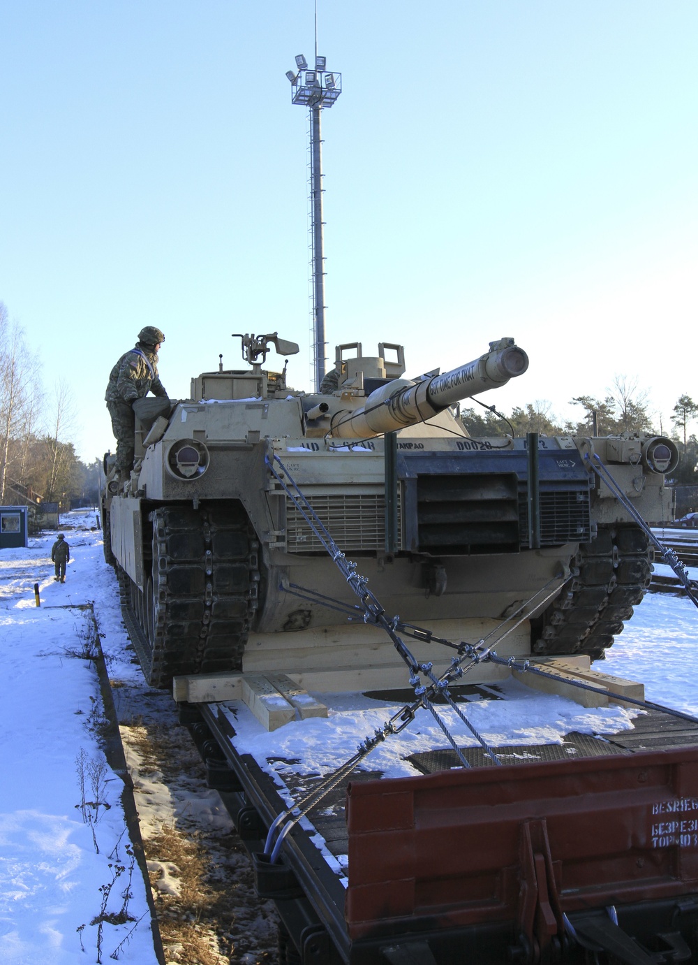
POLYGON ((366 439, 416 426, 454 402, 505 385, 527 368, 528 356, 513 339, 491 342, 489 352, 443 375, 417 382, 399 378, 381 386, 362 408, 337 412, 330 435, 337 439, 366 439))

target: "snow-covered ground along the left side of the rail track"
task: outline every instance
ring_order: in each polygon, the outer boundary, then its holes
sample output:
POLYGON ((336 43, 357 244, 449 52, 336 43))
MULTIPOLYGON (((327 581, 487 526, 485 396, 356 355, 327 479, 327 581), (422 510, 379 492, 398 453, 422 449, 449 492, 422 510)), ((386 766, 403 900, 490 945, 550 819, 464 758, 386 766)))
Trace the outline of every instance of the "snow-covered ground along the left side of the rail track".
POLYGON ((0 961, 71 965, 111 956, 154 965, 122 782, 99 746, 97 676, 79 655, 91 621, 71 605, 94 600, 105 648, 121 657, 123 673, 137 671, 94 513, 68 519, 65 584, 53 579, 56 533, 0 551, 0 961))

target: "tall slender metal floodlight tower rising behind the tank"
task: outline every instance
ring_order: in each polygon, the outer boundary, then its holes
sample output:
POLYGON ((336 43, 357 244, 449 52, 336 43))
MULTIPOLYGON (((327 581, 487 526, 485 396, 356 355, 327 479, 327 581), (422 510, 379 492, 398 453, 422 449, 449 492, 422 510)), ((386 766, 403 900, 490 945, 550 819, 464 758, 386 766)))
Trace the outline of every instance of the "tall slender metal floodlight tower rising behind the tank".
POLYGON ((286 70, 291 82, 291 103, 309 108, 310 130, 310 273, 312 277, 313 372, 315 391, 325 376, 325 252, 322 217, 322 138, 320 112, 332 107, 341 94, 341 74, 329 72, 327 58, 317 55, 315 30, 315 66, 299 54, 296 69, 286 70))

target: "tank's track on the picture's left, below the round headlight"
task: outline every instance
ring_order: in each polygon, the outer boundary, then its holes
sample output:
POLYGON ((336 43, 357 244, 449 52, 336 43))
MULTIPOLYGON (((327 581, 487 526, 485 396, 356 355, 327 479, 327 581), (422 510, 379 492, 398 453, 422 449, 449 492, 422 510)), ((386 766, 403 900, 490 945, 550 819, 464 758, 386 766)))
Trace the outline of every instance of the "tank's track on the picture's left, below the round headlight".
POLYGON ((258 543, 239 504, 153 510, 143 593, 121 571, 124 619, 152 687, 242 669, 258 606, 258 543), (135 627, 134 627, 135 624, 135 627))

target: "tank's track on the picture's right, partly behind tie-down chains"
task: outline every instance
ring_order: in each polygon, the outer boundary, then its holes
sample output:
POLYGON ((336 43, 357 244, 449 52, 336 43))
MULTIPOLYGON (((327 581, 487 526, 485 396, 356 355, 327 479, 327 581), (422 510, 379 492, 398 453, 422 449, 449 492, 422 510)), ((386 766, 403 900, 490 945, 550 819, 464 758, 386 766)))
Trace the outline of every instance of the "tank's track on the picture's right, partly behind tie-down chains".
POLYGON ((532 621, 532 652, 603 659, 645 595, 653 560, 654 550, 639 526, 600 526, 597 538, 579 545, 570 564, 571 582, 532 621))

